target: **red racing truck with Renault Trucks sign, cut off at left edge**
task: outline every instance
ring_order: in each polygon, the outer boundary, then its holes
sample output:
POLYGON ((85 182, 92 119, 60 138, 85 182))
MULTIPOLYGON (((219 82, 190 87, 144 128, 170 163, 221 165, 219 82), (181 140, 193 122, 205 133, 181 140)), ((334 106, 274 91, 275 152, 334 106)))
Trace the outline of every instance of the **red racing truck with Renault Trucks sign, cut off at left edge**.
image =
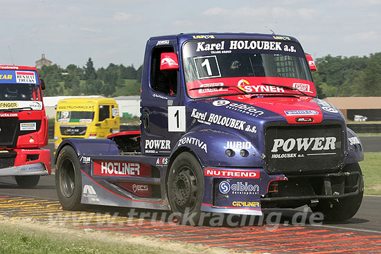
POLYGON ((15 176, 20 188, 51 174, 42 89, 34 67, 0 65, 0 176, 15 176))

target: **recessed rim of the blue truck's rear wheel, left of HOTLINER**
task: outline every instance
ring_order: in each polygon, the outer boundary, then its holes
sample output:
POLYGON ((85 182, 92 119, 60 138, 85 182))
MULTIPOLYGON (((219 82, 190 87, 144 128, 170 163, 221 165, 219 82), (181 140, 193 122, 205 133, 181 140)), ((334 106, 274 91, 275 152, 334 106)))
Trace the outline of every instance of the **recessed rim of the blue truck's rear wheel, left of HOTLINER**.
POLYGON ((73 161, 70 158, 64 158, 60 169, 60 187, 64 197, 69 198, 73 195, 75 180, 73 161))

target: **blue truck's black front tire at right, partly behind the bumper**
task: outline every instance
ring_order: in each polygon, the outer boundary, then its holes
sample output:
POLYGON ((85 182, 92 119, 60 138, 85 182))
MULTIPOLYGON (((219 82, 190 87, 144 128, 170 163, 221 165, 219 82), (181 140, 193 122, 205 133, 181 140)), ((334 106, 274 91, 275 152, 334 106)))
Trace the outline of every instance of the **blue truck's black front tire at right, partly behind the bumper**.
MULTIPOLYGON (((348 164, 344 167, 344 172, 359 172, 360 173, 360 192, 351 197, 344 197, 342 199, 322 199, 317 206, 311 207, 312 212, 322 212, 324 221, 345 221, 355 216, 359 210, 364 194, 364 180, 362 179, 362 172, 358 163, 348 164)), ((350 176, 348 181, 351 185, 356 183, 356 176, 350 176)))

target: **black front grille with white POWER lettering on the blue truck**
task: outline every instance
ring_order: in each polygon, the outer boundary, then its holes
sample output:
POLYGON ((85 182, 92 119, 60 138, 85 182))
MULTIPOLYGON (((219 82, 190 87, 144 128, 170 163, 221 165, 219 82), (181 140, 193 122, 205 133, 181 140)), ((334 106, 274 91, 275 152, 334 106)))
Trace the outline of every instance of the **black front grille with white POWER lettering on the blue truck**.
POLYGON ((270 173, 326 172, 344 160, 344 126, 339 121, 318 125, 265 125, 267 171, 270 173))

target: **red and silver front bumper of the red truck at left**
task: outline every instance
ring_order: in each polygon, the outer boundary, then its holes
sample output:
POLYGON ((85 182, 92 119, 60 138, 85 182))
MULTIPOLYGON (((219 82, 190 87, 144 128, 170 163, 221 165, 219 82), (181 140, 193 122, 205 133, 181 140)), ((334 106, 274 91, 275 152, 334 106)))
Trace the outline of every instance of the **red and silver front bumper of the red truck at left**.
POLYGON ((51 151, 48 149, 13 149, 1 154, 0 176, 51 174, 51 151))

